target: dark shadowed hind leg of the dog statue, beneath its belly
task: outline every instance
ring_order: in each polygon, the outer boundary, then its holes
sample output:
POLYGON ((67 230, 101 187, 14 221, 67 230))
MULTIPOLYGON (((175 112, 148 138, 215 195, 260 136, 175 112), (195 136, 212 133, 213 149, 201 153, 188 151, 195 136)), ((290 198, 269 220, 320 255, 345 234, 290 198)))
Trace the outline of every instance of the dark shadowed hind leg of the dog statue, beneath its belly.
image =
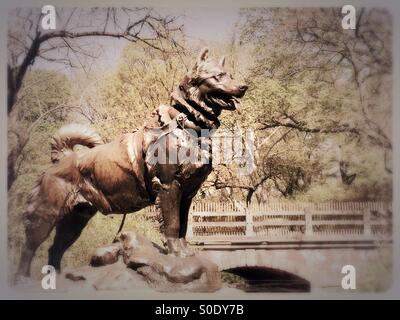
POLYGON ((88 204, 78 204, 57 223, 54 242, 49 249, 49 265, 57 271, 61 270, 61 259, 65 251, 79 238, 96 211, 88 204))

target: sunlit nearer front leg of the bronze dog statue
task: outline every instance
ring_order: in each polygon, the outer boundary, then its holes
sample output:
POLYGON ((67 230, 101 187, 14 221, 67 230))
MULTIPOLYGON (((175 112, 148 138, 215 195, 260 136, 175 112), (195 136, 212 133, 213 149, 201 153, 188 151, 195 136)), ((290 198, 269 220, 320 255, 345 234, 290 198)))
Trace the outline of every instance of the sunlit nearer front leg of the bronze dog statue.
POLYGON ((181 255, 182 246, 179 240, 180 230, 180 202, 182 192, 178 181, 163 183, 158 192, 158 201, 164 219, 164 232, 167 248, 170 254, 181 255))

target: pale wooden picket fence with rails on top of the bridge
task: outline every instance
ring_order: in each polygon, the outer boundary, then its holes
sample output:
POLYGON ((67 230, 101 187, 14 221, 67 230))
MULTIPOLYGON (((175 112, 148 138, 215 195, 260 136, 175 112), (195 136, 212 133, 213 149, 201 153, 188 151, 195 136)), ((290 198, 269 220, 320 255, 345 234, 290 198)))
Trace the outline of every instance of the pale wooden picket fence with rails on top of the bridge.
POLYGON ((390 203, 194 203, 187 238, 213 241, 376 241, 391 239, 390 203))

